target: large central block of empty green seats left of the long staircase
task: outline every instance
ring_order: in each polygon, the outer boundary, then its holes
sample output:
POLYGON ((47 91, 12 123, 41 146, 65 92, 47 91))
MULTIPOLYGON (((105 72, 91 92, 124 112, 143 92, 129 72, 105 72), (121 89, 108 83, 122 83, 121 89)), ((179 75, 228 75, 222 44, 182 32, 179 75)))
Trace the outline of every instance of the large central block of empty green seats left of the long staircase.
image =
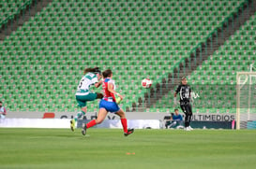
MULTIPOLYGON (((113 69, 118 91, 126 94, 123 106, 131 107, 147 92, 141 87, 144 77, 154 85, 168 77, 246 2, 53 0, 2 42, 3 98, 10 111, 75 111, 83 68, 99 66, 113 69)), ((218 65, 218 60, 211 62, 218 65)), ((201 77, 191 79, 195 84, 217 83, 201 77)), ((89 111, 97 108, 97 102, 88 106, 89 111)))

